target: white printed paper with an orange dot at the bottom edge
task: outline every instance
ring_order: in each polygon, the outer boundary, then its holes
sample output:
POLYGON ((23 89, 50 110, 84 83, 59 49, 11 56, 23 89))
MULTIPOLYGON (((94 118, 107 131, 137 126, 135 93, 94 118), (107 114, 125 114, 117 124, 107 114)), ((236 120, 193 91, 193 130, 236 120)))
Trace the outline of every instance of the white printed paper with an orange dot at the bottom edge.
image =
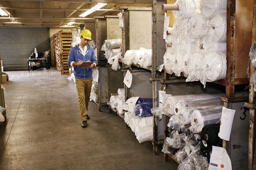
POLYGON ((223 147, 212 146, 209 170, 232 170, 230 157, 223 147))

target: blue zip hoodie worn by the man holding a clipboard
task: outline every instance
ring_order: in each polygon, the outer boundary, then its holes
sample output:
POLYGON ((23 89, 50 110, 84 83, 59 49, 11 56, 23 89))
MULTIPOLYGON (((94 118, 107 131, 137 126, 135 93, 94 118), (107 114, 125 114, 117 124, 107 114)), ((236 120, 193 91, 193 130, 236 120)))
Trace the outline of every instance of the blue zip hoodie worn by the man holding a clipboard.
MULTIPOLYGON (((78 45, 74 46, 69 52, 67 64, 71 66, 70 64, 72 61, 79 62, 79 60, 84 62, 90 61, 97 64, 93 48, 91 48, 90 46, 87 46, 86 52, 87 53, 84 56, 82 55, 82 52, 79 49, 79 46, 78 45)), ((89 69, 88 67, 77 67, 77 66, 74 67, 74 75, 75 75, 75 78, 77 79, 83 79, 83 80, 91 79, 93 78, 92 74, 93 74, 92 69, 89 69)))

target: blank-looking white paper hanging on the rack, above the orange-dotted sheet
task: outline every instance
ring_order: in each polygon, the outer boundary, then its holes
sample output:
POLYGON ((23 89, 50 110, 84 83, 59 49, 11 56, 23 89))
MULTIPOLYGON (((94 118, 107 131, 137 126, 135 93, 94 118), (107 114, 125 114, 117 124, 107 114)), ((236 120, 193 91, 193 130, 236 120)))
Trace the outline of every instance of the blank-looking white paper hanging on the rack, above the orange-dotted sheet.
POLYGON ((227 109, 226 107, 222 108, 221 126, 220 126, 220 132, 218 133, 218 136, 221 139, 224 139, 226 141, 230 140, 230 134, 231 134, 235 113, 236 113, 236 110, 227 109))

